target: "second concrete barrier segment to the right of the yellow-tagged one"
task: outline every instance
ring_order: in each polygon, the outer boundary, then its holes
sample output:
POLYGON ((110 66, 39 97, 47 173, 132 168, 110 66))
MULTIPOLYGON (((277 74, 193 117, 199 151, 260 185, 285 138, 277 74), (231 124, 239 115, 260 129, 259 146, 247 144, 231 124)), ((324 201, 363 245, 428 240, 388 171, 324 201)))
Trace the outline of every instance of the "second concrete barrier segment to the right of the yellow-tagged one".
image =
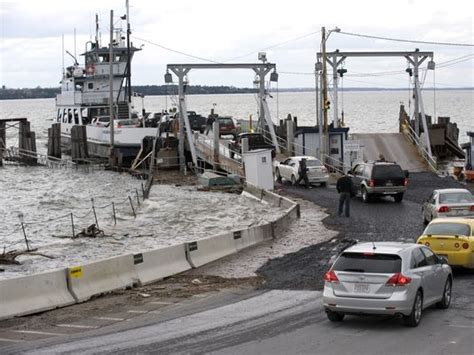
POLYGON ((186 243, 186 257, 193 268, 236 252, 233 232, 186 243))

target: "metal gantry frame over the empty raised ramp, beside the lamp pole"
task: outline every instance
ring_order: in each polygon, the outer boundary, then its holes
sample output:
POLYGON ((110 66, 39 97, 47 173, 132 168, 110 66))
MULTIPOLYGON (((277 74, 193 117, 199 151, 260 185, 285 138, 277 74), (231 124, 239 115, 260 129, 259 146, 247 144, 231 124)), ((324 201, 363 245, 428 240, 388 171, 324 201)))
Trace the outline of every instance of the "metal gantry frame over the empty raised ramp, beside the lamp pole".
MULTIPOLYGON (((318 52, 317 53, 317 61, 318 63, 323 63, 323 65, 327 62, 332 66, 333 71, 333 110, 334 110, 334 118, 333 124, 339 125, 338 120, 338 66, 344 62, 344 60, 348 57, 404 57, 408 60, 410 64, 413 65, 413 74, 414 74, 414 82, 415 82, 415 132, 418 136, 420 136, 420 129, 419 129, 419 119, 421 116, 421 121, 423 124, 423 131, 424 131, 424 143, 426 149, 430 156, 432 156, 431 152, 431 144, 430 144, 430 137, 428 133, 428 125, 426 123, 426 116, 425 110, 423 107, 423 98, 421 96, 421 88, 420 88, 420 79, 419 79, 419 67, 420 65, 427 59, 430 58, 430 62, 428 62, 428 69, 434 69, 434 62, 433 62, 433 52, 421 52, 420 50, 416 49, 415 51, 402 51, 402 52, 340 52, 336 50, 334 52, 318 52)), ((318 66, 317 66, 318 67, 318 66)), ((317 75, 322 75, 322 73, 316 73, 317 75)), ((323 75, 322 75, 323 76, 323 75)), ((325 82, 325 78, 321 78, 323 83, 325 82)), ((323 90, 325 88, 322 88, 323 90)), ((327 90, 327 88, 326 88, 327 90)), ((326 108, 321 105, 321 110, 326 110, 326 108)), ((318 112, 318 114, 321 114, 318 112)), ((320 117, 320 116, 318 116, 320 117)), ((318 120, 319 122, 319 120, 318 120)), ((326 125, 327 122, 324 122, 326 125)), ((324 127, 324 133, 327 134, 327 127, 324 127)))

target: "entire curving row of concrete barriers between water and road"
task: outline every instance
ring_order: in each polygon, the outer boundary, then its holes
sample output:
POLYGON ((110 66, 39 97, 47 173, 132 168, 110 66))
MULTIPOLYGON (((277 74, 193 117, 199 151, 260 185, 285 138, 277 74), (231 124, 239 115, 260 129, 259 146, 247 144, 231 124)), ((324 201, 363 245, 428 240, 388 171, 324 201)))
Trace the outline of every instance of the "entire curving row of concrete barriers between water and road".
POLYGON ((8 319, 80 303, 101 295, 161 280, 207 264, 261 242, 275 239, 300 217, 299 204, 271 191, 246 186, 255 198, 283 207, 283 216, 266 224, 226 232, 208 239, 126 254, 43 274, 0 281, 0 319, 8 319), (215 246, 217 243, 217 246, 215 246), (54 275, 54 279, 51 277, 54 275))

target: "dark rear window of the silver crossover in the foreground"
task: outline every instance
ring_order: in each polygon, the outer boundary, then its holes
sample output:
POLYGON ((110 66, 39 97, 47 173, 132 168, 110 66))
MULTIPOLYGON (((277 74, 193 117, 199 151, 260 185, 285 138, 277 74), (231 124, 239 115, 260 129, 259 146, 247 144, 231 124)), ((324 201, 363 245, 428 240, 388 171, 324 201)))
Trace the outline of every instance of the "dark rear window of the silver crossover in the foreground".
POLYGON ((395 254, 343 253, 333 266, 335 271, 393 274, 400 272, 402 259, 395 254))

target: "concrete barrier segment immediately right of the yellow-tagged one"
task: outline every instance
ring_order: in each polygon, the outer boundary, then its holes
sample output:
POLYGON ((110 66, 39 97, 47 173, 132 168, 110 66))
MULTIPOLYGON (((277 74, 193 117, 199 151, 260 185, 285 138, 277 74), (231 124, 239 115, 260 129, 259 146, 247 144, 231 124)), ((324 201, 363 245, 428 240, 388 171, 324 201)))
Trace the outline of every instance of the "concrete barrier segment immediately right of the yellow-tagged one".
POLYGON ((142 285, 191 269, 185 244, 135 254, 135 270, 142 285))

